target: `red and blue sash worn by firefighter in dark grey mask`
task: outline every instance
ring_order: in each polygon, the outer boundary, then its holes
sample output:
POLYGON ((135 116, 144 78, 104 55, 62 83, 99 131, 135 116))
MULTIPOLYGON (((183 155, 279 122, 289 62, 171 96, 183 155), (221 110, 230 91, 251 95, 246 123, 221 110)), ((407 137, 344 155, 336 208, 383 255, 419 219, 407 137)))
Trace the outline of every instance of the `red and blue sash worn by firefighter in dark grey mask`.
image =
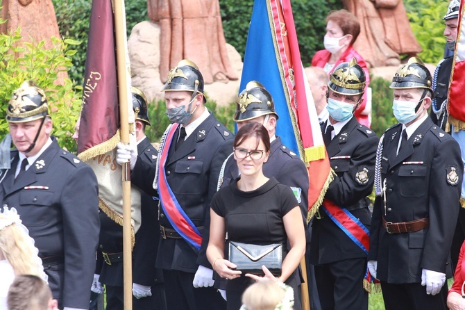
POLYGON ((158 195, 160 195, 162 209, 173 228, 187 241, 187 243, 189 243, 189 245, 200 250, 202 235, 179 205, 178 199, 176 199, 176 196, 169 187, 167 174, 164 170, 164 164, 167 162, 168 158, 169 146, 171 142, 173 142, 173 136, 178 127, 179 124, 173 124, 171 126, 163 143, 160 165, 158 167, 158 195))

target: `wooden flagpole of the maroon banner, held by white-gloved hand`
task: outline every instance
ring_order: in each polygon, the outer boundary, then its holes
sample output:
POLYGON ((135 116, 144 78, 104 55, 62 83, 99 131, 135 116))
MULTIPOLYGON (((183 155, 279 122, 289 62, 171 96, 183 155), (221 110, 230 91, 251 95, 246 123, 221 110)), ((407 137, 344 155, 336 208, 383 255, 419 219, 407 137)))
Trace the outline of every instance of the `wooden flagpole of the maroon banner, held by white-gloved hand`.
MULTIPOLYGON (((128 88, 126 72, 126 13, 124 0, 114 0, 117 46, 117 71, 119 95, 119 120, 121 143, 129 144, 128 88)), ((124 310, 133 309, 133 260, 130 223, 130 163, 123 165, 123 261, 124 261, 124 310)))

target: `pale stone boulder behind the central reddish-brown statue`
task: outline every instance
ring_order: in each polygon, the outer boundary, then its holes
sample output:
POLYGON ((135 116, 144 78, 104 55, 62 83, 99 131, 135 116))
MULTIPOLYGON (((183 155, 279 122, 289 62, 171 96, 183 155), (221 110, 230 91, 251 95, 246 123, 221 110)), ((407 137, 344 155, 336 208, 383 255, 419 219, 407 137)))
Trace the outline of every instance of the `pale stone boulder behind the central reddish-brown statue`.
MULTIPOLYGON (((235 48, 226 44, 228 56, 237 76, 242 75, 242 58, 235 48)), ((150 21, 136 24, 128 39, 132 83, 140 88, 149 101, 163 99, 160 92, 163 83, 160 79, 160 26, 150 21)), ((239 92, 240 81, 214 82, 205 85, 205 95, 226 106, 234 102, 239 92)))

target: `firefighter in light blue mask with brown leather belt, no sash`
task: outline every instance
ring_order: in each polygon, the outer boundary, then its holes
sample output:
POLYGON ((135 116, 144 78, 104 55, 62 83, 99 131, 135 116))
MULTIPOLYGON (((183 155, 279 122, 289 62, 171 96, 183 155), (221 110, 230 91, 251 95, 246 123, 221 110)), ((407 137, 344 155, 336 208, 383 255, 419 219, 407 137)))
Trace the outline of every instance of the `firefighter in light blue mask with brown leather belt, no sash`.
POLYGON ((447 309, 446 272, 459 212, 460 148, 428 117, 431 74, 410 58, 394 75, 399 124, 378 147, 369 269, 389 309, 447 309))

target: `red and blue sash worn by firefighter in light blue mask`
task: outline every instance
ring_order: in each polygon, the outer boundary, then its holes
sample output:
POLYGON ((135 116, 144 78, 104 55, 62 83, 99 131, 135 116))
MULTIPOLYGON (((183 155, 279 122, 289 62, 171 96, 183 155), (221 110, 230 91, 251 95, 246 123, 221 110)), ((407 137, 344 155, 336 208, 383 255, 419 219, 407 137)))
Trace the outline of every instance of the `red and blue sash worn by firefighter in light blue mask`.
MULTIPOLYGON (((331 202, 328 199, 323 200, 323 211, 326 212, 328 217, 335 222, 337 227, 339 227, 344 234, 346 234, 350 240, 362 249, 366 255, 370 250, 370 231, 353 216, 346 208, 339 208, 334 202, 331 202)), ((377 279, 371 277, 371 274, 366 268, 365 277, 364 277, 364 288, 366 291, 370 291, 369 284, 379 283, 377 279)))

